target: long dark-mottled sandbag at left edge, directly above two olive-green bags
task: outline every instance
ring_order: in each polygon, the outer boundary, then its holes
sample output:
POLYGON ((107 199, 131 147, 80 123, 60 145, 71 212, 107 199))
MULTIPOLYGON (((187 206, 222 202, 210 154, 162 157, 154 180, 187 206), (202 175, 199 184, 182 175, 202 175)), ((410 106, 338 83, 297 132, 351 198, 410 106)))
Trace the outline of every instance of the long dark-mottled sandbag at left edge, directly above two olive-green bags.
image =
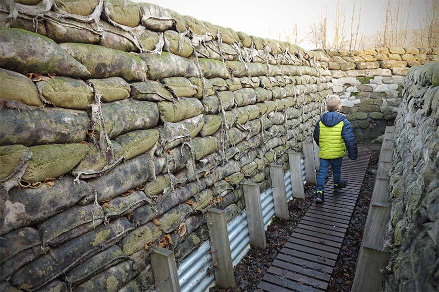
POLYGON ((71 143, 86 138, 89 119, 85 111, 46 107, 32 111, 2 108, 0 112, 0 145, 71 143))

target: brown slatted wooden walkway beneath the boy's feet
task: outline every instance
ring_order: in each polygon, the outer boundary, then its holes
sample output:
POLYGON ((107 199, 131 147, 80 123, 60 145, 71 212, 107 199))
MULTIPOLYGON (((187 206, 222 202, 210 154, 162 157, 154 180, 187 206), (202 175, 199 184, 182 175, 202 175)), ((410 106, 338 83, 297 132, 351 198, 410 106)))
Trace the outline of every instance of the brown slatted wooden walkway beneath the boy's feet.
POLYGON ((370 155, 360 148, 357 160, 343 158, 341 177, 349 180, 348 186, 335 193, 332 177, 327 181, 324 202, 309 207, 256 291, 326 291, 370 155))

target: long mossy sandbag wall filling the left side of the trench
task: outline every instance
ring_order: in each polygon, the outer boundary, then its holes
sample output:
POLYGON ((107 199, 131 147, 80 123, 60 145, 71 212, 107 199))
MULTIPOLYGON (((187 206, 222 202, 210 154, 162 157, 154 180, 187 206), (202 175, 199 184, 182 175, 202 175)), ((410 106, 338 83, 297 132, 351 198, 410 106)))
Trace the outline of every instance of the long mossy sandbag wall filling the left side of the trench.
POLYGON ((319 56, 125 0, 1 3, 1 291, 153 290, 204 212, 286 170, 330 92, 319 56))

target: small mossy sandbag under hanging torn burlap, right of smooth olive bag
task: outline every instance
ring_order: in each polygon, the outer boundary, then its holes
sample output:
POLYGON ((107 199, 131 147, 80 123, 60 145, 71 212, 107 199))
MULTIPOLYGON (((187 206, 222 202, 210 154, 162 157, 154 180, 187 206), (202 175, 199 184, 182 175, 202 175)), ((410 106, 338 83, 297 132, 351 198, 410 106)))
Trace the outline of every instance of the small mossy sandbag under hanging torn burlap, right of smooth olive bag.
POLYGON ((71 170, 71 174, 81 179, 96 177, 110 170, 122 161, 123 152, 119 143, 111 141, 111 151, 105 153, 95 145, 88 145, 84 158, 71 170))

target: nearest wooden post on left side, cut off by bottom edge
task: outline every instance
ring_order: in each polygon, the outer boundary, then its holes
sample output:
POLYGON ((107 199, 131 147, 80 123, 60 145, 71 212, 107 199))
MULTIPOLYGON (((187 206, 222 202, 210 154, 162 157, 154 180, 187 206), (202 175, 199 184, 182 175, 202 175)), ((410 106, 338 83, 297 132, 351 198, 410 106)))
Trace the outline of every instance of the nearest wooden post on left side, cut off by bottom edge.
POLYGON ((180 284, 178 283, 174 253, 163 248, 157 248, 152 252, 150 259, 156 291, 179 292, 180 284))

